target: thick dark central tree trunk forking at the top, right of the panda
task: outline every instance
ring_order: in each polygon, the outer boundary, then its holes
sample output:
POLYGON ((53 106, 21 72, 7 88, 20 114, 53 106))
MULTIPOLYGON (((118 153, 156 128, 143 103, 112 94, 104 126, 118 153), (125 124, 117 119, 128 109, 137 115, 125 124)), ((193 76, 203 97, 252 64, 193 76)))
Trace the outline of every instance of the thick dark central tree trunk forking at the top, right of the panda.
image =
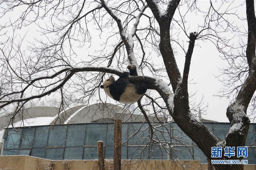
MULTIPOLYGON (((160 15, 160 10, 154 1, 147 0, 147 3, 153 12, 155 18, 158 21, 160 27, 160 44, 159 49, 166 67, 168 77, 170 79, 174 95, 174 109, 168 107, 170 104, 169 98, 164 93, 159 93, 164 99, 170 115, 173 117, 177 125, 183 130, 186 135, 188 135, 204 152, 204 154, 211 158, 211 147, 217 145, 220 142, 216 136, 214 136, 210 130, 198 121, 195 116, 190 112, 189 101, 188 101, 188 91, 187 83, 182 81, 182 76, 180 74, 179 68, 175 61, 172 46, 170 44, 170 24, 172 16, 179 4, 179 0, 171 1, 167 8, 167 13, 160 15), (182 83, 183 82, 183 83, 182 83)), ((193 39, 195 41, 195 39, 193 39)), ((192 44, 192 49, 193 49, 192 44)), ((189 57, 191 57, 192 51, 189 57)), ((187 57, 187 56, 186 56, 187 57)), ((190 60, 188 60, 190 61, 190 60)), ((188 68, 189 69, 189 65, 188 68)), ((188 70, 187 70, 188 71, 188 70)), ((185 81, 186 82, 186 81, 185 81)))

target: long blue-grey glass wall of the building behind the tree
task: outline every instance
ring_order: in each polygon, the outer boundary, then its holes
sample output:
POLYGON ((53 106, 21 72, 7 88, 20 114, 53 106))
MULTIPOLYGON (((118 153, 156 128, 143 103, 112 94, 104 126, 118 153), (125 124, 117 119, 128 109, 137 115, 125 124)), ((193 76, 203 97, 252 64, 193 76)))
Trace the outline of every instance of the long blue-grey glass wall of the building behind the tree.
MULTIPOLYGON (((225 139, 230 125, 204 123, 216 136, 225 139)), ((6 129, 4 155, 31 155, 50 160, 97 159, 97 142, 103 141, 105 159, 113 159, 114 123, 88 123, 6 129)), ((256 163, 256 124, 250 124, 246 146, 249 164, 256 163)), ((122 159, 201 160, 203 152, 176 123, 123 123, 122 159), (151 129, 154 133, 151 134, 151 129), (152 139, 152 140, 150 140, 152 139)))

